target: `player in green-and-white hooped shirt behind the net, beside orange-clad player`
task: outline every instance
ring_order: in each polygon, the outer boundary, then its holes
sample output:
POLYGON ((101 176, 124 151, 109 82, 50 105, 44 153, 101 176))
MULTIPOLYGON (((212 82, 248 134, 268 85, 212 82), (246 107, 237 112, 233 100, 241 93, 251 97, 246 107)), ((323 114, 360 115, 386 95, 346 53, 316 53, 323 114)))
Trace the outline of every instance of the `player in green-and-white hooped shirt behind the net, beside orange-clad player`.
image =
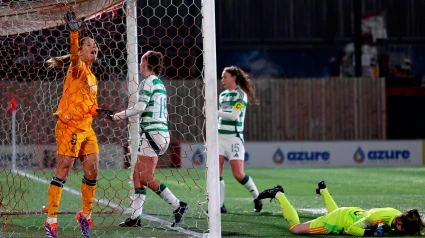
POLYGON ((139 101, 122 112, 113 115, 114 120, 140 114, 141 140, 139 143, 138 159, 134 165, 133 182, 134 195, 131 208, 133 214, 124 222, 123 227, 141 226, 140 216, 146 199, 146 187, 152 189, 174 210, 177 225, 188 206, 179 201, 164 183, 154 178, 158 163, 158 155, 162 155, 170 144, 168 131, 167 92, 162 81, 158 78, 163 67, 163 55, 159 52, 148 51, 142 56, 140 71, 145 78, 141 83, 139 101))

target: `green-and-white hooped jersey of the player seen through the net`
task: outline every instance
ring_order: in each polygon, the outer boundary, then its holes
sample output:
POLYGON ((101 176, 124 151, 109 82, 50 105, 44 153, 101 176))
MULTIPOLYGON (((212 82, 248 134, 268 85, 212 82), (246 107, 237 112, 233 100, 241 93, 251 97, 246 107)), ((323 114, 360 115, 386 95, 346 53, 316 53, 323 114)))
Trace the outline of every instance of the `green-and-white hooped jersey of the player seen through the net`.
POLYGON ((147 132, 168 133, 167 91, 158 77, 151 75, 142 81, 139 102, 146 103, 140 116, 140 128, 147 132))

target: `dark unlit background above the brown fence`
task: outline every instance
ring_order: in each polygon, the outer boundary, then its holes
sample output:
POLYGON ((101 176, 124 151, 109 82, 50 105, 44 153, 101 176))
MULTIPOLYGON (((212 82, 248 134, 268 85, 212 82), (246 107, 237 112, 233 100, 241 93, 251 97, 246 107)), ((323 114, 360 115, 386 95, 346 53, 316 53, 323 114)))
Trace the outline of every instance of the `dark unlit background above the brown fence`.
MULTIPOLYGON (((163 52, 164 77, 199 78, 201 1, 147 2, 138 1, 139 52, 163 52), (188 7, 171 5, 180 3, 188 7)), ((378 49, 379 76, 386 78, 387 138, 425 138, 425 0, 217 0, 215 12, 218 77, 224 67, 237 65, 258 80, 339 76, 344 47, 350 42, 362 45, 361 18, 382 16, 388 37, 372 45, 378 49), (404 59, 411 62, 407 73, 399 71, 404 59)), ((83 35, 99 44, 100 60, 94 67, 98 79, 125 80, 122 9, 89 23, 83 35)), ((67 41, 63 26, 0 37, 0 78, 62 79, 63 71, 49 71, 44 62, 66 54, 67 41)), ((361 75, 357 68, 356 75, 361 75)))

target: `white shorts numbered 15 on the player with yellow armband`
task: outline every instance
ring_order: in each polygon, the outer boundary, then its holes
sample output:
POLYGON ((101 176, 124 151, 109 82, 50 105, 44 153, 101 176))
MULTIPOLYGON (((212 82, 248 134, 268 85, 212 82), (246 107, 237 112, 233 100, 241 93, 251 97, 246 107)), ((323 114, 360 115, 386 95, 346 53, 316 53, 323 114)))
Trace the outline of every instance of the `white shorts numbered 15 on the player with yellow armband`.
POLYGON ((245 160, 245 146, 239 137, 218 135, 218 152, 229 160, 245 160))

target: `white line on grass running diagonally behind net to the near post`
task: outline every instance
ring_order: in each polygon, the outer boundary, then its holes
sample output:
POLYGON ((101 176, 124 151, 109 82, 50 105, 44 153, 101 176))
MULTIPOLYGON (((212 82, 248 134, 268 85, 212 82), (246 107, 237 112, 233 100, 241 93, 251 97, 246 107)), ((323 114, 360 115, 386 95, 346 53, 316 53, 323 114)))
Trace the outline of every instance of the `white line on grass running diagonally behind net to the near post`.
MULTIPOLYGON (((47 181, 47 180, 45 180, 45 179, 41 179, 41 178, 39 178, 39 177, 37 177, 37 176, 35 176, 35 175, 27 174, 27 173, 25 173, 25 172, 23 172, 23 171, 19 171, 19 170, 12 170, 12 172, 15 172, 15 173, 17 173, 17 174, 19 174, 19 175, 21 175, 21 176, 23 176, 23 177, 28 177, 28 178, 33 179, 33 180, 35 180, 35 181, 37 181, 37 182, 40 182, 40 183, 50 184, 50 181, 47 181)), ((65 187, 65 186, 63 187, 63 190, 64 190, 64 191, 67 191, 67 192, 69 192, 69 193, 72 193, 72 194, 74 194, 74 195, 81 196, 81 192, 80 192, 80 191, 78 191, 78 190, 75 190, 75 189, 72 189, 72 188, 68 188, 68 187, 65 187)), ((98 203, 104 204, 104 205, 106 205, 106 206, 108 206, 108 207, 112 207, 112 208, 114 208, 114 209, 124 210, 124 213, 131 213, 131 211, 130 211, 131 209, 123 209, 123 208, 122 208, 121 206, 119 206, 118 204, 115 204, 115 203, 113 203, 113 202, 111 202, 111 201, 109 201, 109 200, 99 199, 99 198, 95 198, 95 199, 96 199, 96 201, 97 201, 98 203)), ((194 232, 194 231, 191 231, 191 230, 186 230, 186 229, 183 229, 183 228, 181 228, 181 227, 171 227, 171 224, 172 224, 171 222, 164 221, 164 220, 162 220, 162 219, 159 219, 159 218, 154 217, 154 216, 151 216, 151 215, 143 214, 142 218, 144 218, 144 219, 146 219, 146 220, 149 220, 149 221, 158 222, 159 224, 161 224, 161 225, 163 225, 163 226, 168 226, 168 227, 169 227, 170 229, 172 229, 172 230, 176 230, 176 231, 179 231, 179 232, 182 232, 182 233, 185 233, 185 234, 191 235, 191 236, 193 236, 193 237, 199 237, 199 238, 202 238, 202 237, 203 237, 203 234, 198 233, 198 232, 194 232)))

